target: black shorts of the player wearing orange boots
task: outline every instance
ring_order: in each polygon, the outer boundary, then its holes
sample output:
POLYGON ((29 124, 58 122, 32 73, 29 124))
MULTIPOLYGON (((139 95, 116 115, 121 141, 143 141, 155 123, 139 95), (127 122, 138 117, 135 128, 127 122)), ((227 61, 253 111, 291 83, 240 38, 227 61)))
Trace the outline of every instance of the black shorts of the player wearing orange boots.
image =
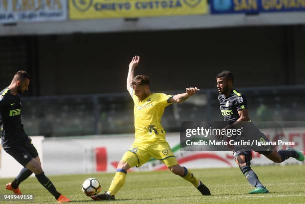
POLYGON ((24 142, 15 144, 9 148, 3 147, 3 150, 23 167, 25 167, 31 159, 38 157, 38 152, 30 138, 27 138, 24 142))

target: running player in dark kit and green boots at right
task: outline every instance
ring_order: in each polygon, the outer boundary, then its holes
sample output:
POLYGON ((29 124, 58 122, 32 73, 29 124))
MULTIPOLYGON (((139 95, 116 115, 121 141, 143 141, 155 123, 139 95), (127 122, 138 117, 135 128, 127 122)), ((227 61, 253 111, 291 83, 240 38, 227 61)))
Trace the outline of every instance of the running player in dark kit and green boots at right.
MULTIPOLYGON (((260 132, 259 129, 251 122, 248 115, 247 99, 245 95, 239 93, 233 88, 233 74, 230 71, 222 71, 217 74, 216 81, 219 92, 218 100, 220 103, 220 111, 228 126, 232 127, 237 124, 247 126, 247 128, 244 129, 245 134, 254 135, 258 140, 261 139, 263 141, 269 141, 268 138, 262 132, 260 132), (251 131, 247 132, 249 130, 251 131)), ((239 168, 245 175, 248 182, 253 187, 255 187, 253 191, 250 191, 250 194, 269 193, 269 191, 261 184, 257 175, 250 167, 250 161, 252 159, 252 149, 253 148, 249 146, 234 146, 234 160, 238 164, 239 168)), ((257 152, 265 155, 268 159, 275 163, 284 162, 290 157, 293 157, 301 162, 304 161, 304 155, 302 154, 302 152, 294 150, 292 148, 277 151, 273 147, 266 146, 265 151, 257 152)))

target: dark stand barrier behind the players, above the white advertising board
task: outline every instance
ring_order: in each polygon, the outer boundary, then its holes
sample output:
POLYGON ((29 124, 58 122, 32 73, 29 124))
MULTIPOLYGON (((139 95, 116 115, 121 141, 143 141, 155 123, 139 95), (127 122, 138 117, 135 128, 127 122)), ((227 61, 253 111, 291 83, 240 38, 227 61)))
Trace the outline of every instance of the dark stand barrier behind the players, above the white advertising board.
MULTIPOLYGON (((237 90, 246 95, 253 121, 305 121, 305 85, 237 90)), ((22 123, 28 135, 46 137, 133 133, 133 108, 128 93, 23 97, 22 123)), ((178 132, 181 121, 193 120, 223 120, 216 89, 168 106, 162 125, 167 132, 178 132)))

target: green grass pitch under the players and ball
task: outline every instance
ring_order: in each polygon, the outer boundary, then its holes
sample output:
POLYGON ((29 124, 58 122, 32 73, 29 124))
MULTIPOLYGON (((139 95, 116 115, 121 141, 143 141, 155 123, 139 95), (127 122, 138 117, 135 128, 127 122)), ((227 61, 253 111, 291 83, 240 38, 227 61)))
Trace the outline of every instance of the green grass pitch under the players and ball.
MULTIPOLYGON (((169 171, 127 174, 125 186, 111 204, 305 204, 305 165, 253 167, 270 194, 249 195, 253 188, 238 168, 191 170, 211 190, 212 196, 201 194, 188 182, 169 171)), ((50 176, 57 190, 73 200, 73 204, 99 203, 91 201, 81 191, 82 182, 90 177, 100 181, 107 191, 114 174, 50 176)), ((11 179, 0 180, 0 194, 10 194, 4 186, 11 179)), ((0 204, 54 204, 55 199, 29 178, 20 185, 23 194, 33 194, 32 202, 0 204)))

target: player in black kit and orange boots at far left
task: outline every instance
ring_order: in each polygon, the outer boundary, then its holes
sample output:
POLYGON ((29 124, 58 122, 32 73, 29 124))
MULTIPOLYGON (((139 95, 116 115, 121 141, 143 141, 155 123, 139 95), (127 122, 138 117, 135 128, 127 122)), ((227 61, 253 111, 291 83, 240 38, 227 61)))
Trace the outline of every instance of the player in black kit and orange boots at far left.
POLYGON ((21 124, 20 94, 28 89, 30 78, 25 71, 18 71, 11 84, 0 92, 2 148, 23 166, 19 175, 11 183, 6 184, 5 188, 14 194, 21 194, 19 184, 34 173, 39 183, 55 197, 58 203, 70 202, 67 197, 56 191, 52 182, 44 175, 37 150, 21 124))

